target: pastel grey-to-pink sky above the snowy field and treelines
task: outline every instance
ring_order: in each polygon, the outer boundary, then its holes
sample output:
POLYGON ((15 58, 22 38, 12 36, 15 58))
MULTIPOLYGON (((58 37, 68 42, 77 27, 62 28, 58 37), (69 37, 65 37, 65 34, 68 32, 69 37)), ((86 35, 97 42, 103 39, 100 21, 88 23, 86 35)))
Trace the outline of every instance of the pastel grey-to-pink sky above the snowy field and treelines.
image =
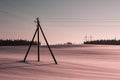
POLYGON ((36 17, 50 44, 120 39, 120 0, 0 0, 0 39, 31 40, 36 17))

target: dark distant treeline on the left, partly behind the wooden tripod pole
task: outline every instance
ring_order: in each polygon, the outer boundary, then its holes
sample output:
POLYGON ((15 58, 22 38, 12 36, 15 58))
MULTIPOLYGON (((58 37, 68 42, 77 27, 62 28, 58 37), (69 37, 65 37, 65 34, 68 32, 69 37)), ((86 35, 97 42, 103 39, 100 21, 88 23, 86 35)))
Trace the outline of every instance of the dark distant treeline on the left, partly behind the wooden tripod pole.
MULTIPOLYGON (((0 46, 23 46, 23 45, 29 45, 31 41, 28 40, 2 40, 0 39, 0 46)), ((37 42, 33 42, 32 45, 37 45, 37 42)))

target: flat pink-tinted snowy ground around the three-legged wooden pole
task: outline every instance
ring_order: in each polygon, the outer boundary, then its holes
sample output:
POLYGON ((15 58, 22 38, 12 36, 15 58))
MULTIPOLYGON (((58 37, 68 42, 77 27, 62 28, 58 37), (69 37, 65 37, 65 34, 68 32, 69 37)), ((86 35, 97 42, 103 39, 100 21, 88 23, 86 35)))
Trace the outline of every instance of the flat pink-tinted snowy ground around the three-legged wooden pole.
POLYGON ((54 61, 47 48, 0 47, 0 80, 120 80, 120 46, 52 48, 54 61))

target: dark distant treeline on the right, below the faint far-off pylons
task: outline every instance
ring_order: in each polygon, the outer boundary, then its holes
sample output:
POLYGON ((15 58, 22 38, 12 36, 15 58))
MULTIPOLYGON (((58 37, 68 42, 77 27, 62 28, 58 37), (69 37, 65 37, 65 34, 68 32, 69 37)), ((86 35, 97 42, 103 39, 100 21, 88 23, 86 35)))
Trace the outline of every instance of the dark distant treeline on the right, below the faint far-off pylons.
POLYGON ((86 41, 84 44, 120 45, 120 40, 94 40, 86 41))

